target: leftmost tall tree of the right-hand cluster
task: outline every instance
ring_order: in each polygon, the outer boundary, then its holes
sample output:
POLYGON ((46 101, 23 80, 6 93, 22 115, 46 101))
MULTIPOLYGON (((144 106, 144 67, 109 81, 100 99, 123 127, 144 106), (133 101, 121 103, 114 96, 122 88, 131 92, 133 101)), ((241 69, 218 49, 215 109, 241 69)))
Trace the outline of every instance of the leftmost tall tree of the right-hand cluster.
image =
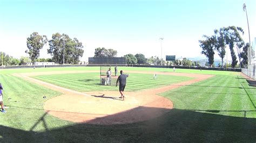
POLYGON ((200 47, 202 48, 201 54, 204 54, 208 58, 210 66, 214 63, 214 44, 215 38, 208 37, 207 35, 203 36, 205 40, 199 40, 200 47))

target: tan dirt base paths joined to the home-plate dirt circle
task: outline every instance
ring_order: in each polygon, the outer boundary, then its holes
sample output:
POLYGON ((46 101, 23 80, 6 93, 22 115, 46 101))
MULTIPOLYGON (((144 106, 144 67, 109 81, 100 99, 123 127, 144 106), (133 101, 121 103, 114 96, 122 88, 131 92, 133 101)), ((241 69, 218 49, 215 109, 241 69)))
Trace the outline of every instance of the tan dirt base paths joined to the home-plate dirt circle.
POLYGON ((50 71, 44 73, 22 73, 14 75, 63 93, 63 95, 51 98, 44 103, 44 110, 50 115, 64 120, 88 124, 126 124, 159 117, 170 111, 173 108, 173 103, 169 99, 158 96, 157 94, 183 85, 196 83, 213 76, 155 71, 129 71, 129 73, 152 75, 188 76, 194 77, 194 79, 156 89, 125 92, 125 101, 119 98, 120 94, 118 88, 117 91, 78 92, 30 77, 46 74, 94 72, 97 71, 50 71))

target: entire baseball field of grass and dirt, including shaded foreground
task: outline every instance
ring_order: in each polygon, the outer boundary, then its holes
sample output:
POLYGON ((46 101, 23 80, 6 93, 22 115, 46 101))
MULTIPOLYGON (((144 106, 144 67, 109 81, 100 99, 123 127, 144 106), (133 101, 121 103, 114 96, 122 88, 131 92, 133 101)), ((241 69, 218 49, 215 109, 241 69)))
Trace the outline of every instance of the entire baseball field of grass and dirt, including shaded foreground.
POLYGON ((1 69, 0 142, 256 141, 256 87, 241 73, 118 70, 124 101, 99 67, 1 69))

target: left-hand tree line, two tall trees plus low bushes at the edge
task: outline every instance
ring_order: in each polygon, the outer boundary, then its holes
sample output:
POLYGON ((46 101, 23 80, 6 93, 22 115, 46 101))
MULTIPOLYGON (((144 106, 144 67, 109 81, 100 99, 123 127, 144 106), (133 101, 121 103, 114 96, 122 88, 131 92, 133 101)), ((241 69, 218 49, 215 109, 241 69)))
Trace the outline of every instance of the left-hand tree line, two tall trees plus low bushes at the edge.
POLYGON ((77 38, 71 39, 68 34, 60 33, 52 34, 52 39, 48 40, 46 35, 39 35, 38 32, 33 32, 26 39, 26 46, 28 49, 26 49, 25 53, 29 54, 29 57, 22 56, 17 59, 1 52, 0 65, 29 65, 29 63, 35 65, 35 62, 77 64, 84 53, 82 42, 79 42, 77 38), (47 42, 49 43, 47 53, 51 55, 51 58, 39 58, 40 51, 47 42))

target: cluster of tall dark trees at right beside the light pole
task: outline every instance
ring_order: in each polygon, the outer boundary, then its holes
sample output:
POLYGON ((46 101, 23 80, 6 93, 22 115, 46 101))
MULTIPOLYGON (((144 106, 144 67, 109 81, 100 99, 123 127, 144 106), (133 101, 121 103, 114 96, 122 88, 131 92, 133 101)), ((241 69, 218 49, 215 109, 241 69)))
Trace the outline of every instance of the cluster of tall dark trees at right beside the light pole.
POLYGON ((247 59, 247 49, 250 47, 249 43, 241 38, 244 31, 241 27, 228 26, 222 27, 219 30, 214 30, 214 34, 211 36, 203 35, 203 40, 199 40, 199 45, 202 48, 201 54, 204 54, 208 58, 210 65, 214 63, 215 52, 221 58, 221 67, 224 67, 224 56, 226 55, 226 47, 230 48, 232 63, 231 67, 235 68, 239 60, 239 67, 246 68, 247 59), (237 49, 237 55, 235 55, 235 49, 237 49))

